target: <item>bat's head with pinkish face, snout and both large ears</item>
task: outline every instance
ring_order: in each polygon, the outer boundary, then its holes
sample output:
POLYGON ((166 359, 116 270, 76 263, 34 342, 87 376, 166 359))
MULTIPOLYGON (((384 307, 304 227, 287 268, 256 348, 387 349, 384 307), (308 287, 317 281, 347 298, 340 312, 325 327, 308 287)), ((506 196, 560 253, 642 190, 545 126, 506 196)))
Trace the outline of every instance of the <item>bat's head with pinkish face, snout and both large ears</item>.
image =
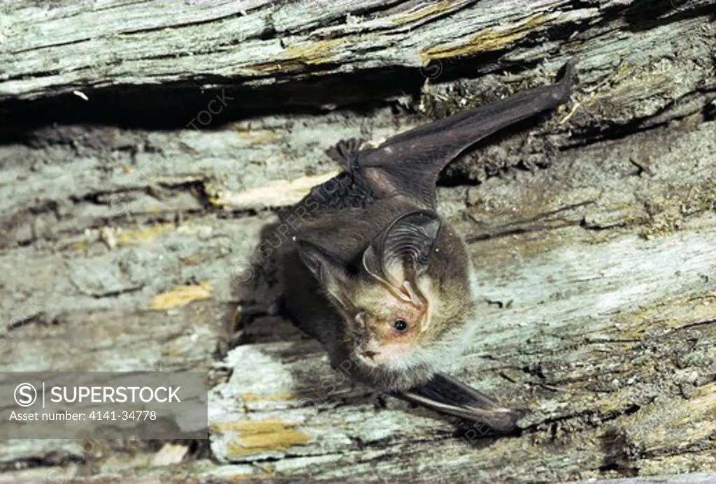
POLYGON ((434 212, 402 214, 362 253, 357 274, 316 245, 299 242, 304 263, 346 322, 355 359, 400 369, 430 340, 438 288, 427 268, 439 232, 434 212))

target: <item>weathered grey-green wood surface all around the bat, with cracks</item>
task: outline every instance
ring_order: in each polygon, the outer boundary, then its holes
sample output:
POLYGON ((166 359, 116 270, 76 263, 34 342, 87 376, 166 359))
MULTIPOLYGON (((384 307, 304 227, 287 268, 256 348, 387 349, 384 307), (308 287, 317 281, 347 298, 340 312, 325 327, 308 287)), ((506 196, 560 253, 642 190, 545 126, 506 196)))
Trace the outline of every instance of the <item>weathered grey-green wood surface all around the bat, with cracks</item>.
POLYGON ((714 1, 0 8, 0 370, 216 382, 208 445, 7 441, 0 483, 716 480, 714 1), (351 385, 279 317, 230 336, 278 294, 254 247, 328 147, 574 55, 566 109, 440 180, 484 297, 454 374, 529 410, 518 433, 351 385))

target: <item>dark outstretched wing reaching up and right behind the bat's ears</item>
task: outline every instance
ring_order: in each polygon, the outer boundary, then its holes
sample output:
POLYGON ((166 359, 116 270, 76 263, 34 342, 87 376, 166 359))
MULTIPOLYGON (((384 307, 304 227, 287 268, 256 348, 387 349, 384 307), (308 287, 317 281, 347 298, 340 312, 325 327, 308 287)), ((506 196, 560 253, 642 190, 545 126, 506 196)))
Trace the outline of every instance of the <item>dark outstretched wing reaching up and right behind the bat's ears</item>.
POLYGON ((574 59, 556 84, 454 114, 359 150, 359 140, 339 143, 329 154, 349 171, 358 169, 379 197, 402 194, 435 208, 435 182, 446 164, 480 139, 569 101, 574 59))

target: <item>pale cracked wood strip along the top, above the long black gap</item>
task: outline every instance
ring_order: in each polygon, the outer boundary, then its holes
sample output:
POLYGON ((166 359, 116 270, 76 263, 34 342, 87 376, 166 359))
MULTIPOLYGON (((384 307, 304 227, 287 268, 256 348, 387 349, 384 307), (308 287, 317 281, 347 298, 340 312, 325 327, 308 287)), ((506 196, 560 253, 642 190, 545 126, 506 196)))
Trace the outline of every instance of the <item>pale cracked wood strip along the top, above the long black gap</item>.
MULTIPOLYGON (((652 5, 599 0, 588 6, 547 0, 523 8, 517 8, 523 6, 518 1, 476 3, 59 1, 52 8, 9 4, 4 7, 0 99, 35 99, 127 84, 197 81, 211 86, 239 79, 261 86, 301 79, 306 72, 326 76, 384 66, 419 67, 431 59, 504 51, 530 36, 589 25, 600 17, 620 16, 623 26, 642 29, 671 23, 674 19, 669 18, 680 11, 687 15, 712 5, 709 0, 649 2, 652 5)), ((649 44, 652 35, 659 38, 659 29, 647 30, 632 46, 649 44)), ((548 51, 556 45, 537 47, 548 51)))

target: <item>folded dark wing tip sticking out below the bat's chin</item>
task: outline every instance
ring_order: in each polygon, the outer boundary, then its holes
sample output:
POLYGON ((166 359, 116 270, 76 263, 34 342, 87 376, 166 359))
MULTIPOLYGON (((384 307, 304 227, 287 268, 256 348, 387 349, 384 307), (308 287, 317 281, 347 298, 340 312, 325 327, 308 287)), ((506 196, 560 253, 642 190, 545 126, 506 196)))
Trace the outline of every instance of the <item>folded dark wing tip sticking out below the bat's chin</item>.
POLYGON ((513 431, 522 416, 445 373, 436 373, 427 383, 394 395, 440 413, 485 423, 500 433, 513 431))

